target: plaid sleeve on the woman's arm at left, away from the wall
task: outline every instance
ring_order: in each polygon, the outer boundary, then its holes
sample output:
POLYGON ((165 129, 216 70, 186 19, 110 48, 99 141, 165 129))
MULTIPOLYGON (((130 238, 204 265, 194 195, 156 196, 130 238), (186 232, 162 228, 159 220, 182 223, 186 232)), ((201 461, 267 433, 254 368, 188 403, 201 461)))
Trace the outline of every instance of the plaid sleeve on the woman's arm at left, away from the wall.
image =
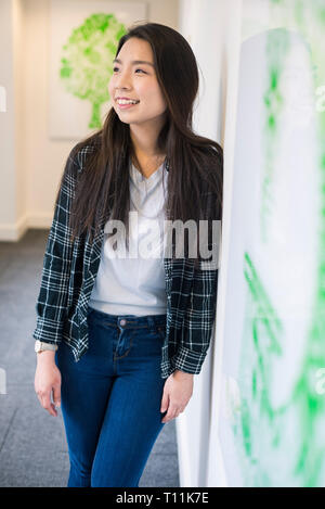
POLYGON ((73 258, 68 220, 77 179, 77 155, 69 153, 55 202, 52 226, 48 237, 41 285, 36 304, 37 327, 32 336, 44 343, 61 342, 66 313, 68 282, 73 258))

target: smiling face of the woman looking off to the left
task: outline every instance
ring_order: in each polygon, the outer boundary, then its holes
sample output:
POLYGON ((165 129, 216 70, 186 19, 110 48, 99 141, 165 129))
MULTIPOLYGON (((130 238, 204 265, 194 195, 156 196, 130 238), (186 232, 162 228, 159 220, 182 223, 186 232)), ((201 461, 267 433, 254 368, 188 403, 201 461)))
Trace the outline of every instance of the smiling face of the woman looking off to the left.
POLYGON ((108 91, 119 119, 126 124, 161 122, 167 105, 157 81, 151 44, 132 37, 123 43, 113 66, 108 91), (117 98, 139 102, 118 104, 117 98))

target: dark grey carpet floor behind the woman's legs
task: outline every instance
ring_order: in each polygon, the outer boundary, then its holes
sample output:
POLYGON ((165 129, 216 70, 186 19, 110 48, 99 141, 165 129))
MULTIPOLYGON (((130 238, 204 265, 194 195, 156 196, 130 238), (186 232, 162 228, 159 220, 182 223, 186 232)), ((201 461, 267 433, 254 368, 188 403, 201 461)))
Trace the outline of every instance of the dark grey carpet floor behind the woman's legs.
MULTIPOLYGON (((66 486, 68 476, 61 411, 50 416, 34 391, 35 305, 47 238, 47 230, 28 230, 20 242, 0 242, 1 487, 66 486)), ((139 486, 179 486, 174 420, 159 434, 139 486)))

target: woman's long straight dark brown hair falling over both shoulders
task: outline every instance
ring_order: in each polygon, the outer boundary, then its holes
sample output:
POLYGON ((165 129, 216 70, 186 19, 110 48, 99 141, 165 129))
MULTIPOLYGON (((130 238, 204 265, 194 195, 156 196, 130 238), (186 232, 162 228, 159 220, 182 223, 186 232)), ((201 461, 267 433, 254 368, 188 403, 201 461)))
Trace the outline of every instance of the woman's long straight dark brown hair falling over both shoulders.
MULTIPOLYGON (((131 37, 152 48, 158 84, 167 103, 166 123, 157 150, 169 166, 166 218, 208 219, 203 184, 214 196, 213 219, 221 219, 223 151, 219 143, 193 131, 193 104, 198 91, 198 68, 186 39, 169 26, 145 23, 129 28, 118 42, 116 56, 131 37)), ((92 242, 103 221, 123 221, 128 237, 129 161, 134 157, 130 127, 120 122, 114 107, 103 127, 78 143, 92 145, 80 173, 70 211, 72 241, 83 233, 92 242)), ((64 178, 64 176, 63 176, 64 178)), ((58 198, 58 193, 57 193, 58 198)))

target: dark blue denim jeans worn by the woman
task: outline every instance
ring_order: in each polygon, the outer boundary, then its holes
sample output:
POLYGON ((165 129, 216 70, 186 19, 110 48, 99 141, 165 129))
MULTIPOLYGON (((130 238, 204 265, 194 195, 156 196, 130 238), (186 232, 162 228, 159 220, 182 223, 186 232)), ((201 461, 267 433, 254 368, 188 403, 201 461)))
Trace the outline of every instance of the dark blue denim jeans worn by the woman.
POLYGON ((160 376, 166 315, 108 315, 90 308, 89 349, 76 362, 62 342, 61 409, 67 486, 138 487, 165 423, 160 376))

